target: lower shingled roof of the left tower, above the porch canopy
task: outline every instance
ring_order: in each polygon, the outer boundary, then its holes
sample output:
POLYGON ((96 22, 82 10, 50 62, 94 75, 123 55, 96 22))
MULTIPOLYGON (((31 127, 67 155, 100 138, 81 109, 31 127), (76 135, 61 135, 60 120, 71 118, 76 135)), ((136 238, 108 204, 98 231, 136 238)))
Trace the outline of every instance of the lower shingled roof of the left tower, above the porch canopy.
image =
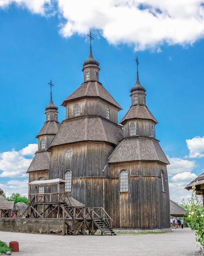
POLYGON ((40 150, 35 153, 27 173, 31 171, 48 170, 50 167, 50 151, 40 150))

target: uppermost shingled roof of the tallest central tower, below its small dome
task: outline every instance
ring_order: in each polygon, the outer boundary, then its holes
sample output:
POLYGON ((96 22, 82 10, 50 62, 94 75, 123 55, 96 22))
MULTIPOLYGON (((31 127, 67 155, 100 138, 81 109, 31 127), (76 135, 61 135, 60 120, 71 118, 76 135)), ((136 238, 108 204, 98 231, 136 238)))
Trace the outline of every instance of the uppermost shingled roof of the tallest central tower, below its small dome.
POLYGON ((75 90, 69 97, 67 97, 61 106, 66 106, 68 101, 72 101, 74 99, 79 99, 83 97, 99 97, 115 107, 117 107, 119 110, 121 110, 121 106, 118 105, 118 103, 114 100, 114 98, 110 95, 107 90, 103 87, 103 85, 98 81, 89 81, 82 83, 82 85, 75 90))

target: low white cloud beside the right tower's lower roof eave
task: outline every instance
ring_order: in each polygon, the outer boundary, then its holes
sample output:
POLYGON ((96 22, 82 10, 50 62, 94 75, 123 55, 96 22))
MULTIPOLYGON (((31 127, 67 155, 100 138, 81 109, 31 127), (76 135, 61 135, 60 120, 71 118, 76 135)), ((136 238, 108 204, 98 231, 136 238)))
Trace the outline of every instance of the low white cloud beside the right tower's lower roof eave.
POLYGON ((168 157, 170 165, 167 166, 168 175, 190 172, 195 168, 195 161, 184 160, 178 157, 168 157))

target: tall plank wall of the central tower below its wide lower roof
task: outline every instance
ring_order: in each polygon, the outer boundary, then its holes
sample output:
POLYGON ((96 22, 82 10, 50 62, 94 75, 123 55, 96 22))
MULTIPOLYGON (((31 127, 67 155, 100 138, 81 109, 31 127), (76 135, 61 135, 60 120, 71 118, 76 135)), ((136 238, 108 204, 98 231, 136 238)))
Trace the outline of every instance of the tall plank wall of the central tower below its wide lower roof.
MULTIPOLYGON (((70 196, 89 207, 101 207, 106 200, 107 156, 113 146, 101 142, 83 142, 52 148, 50 156, 49 179, 64 179, 67 170, 72 172, 72 191, 70 196), (72 157, 66 158, 66 150, 73 151, 72 157)), ((52 187, 50 192, 56 192, 52 187)))

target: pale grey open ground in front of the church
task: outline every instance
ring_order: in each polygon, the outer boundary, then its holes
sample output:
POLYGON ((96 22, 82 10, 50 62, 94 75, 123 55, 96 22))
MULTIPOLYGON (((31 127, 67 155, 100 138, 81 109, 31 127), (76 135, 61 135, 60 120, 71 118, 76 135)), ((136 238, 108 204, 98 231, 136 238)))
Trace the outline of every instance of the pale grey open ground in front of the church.
POLYGON ((160 234, 117 236, 59 236, 0 231, 0 240, 8 245, 11 241, 19 243, 19 252, 13 252, 13 256, 190 256, 199 250, 195 232, 189 228, 172 229, 172 232, 160 234))

